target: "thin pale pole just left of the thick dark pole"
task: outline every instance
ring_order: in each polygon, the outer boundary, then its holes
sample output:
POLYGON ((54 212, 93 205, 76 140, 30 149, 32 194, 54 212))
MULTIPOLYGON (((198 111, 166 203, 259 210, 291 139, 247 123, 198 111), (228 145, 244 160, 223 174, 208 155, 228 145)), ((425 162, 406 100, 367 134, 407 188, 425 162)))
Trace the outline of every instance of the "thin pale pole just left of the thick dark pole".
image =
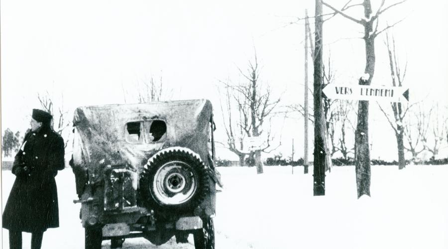
POLYGON ((308 22, 308 10, 305 9, 305 141, 304 141, 304 155, 303 155, 303 173, 308 174, 308 28, 310 23, 308 22))

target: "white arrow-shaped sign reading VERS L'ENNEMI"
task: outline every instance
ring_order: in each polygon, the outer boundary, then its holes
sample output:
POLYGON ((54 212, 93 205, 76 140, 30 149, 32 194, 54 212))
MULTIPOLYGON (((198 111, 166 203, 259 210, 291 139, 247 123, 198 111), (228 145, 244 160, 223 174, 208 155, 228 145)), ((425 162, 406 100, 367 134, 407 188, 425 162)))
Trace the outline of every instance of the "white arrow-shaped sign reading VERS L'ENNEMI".
POLYGON ((404 87, 328 84, 322 92, 329 99, 387 102, 409 101, 409 88, 404 87))

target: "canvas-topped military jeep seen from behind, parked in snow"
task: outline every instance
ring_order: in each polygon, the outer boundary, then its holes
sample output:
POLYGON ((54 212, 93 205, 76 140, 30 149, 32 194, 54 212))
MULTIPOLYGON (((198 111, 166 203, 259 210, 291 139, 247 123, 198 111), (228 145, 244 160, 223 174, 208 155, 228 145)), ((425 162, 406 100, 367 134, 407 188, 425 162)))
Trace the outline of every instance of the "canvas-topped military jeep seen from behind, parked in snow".
MULTIPOLYGON (((214 249, 217 185, 208 100, 79 107, 70 161, 85 248, 142 237, 162 245, 193 235, 214 249)), ((219 187, 218 187, 219 188, 219 187)))

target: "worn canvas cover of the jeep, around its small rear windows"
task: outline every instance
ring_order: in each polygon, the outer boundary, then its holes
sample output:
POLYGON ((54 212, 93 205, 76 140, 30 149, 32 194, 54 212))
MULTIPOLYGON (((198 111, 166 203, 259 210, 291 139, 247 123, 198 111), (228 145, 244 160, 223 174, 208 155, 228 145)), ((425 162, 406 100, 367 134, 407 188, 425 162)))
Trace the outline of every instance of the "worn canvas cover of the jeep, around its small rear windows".
POLYGON ((86 177, 88 172, 91 182, 101 181, 108 165, 141 172, 152 155, 173 146, 195 151, 207 164, 211 116, 212 104, 208 100, 77 108, 73 120, 73 170, 86 177), (126 139, 127 124, 154 120, 166 124, 160 140, 130 142, 126 139))

